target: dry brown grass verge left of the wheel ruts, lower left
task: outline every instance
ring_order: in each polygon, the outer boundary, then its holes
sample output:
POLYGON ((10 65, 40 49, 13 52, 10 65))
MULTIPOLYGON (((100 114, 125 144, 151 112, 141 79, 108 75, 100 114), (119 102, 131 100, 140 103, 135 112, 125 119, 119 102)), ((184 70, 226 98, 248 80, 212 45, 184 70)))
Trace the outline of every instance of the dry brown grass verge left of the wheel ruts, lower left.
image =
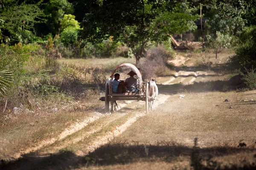
POLYGON ((98 100, 95 96, 89 101, 72 102, 62 107, 49 105, 41 112, 9 114, 6 124, 1 127, 0 157, 5 160, 11 159, 15 153, 58 136, 71 124, 89 118, 92 112, 104 106, 104 103, 97 103, 98 100))

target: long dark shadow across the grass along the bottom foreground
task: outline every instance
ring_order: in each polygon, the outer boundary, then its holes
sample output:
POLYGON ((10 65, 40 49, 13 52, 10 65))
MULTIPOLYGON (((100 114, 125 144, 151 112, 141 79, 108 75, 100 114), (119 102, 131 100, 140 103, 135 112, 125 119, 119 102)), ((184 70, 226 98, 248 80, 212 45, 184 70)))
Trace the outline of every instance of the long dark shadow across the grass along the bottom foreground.
POLYGON ((54 155, 24 155, 17 161, 3 165, 3 170, 41 170, 61 169, 70 170, 74 168, 90 166, 106 166, 115 164, 130 164, 136 162, 167 162, 175 163, 187 159, 194 169, 201 170, 252 170, 256 169, 256 151, 254 148, 244 147, 240 144, 237 147, 186 147, 175 144, 172 141, 162 141, 157 144, 128 144, 116 142, 105 144, 87 156, 76 156, 70 151, 62 151, 54 155), (240 153, 246 155, 241 158, 240 153), (222 161, 223 156, 230 156, 226 162, 222 161), (180 159, 182 157, 182 160, 180 159), (216 159, 217 158, 217 159, 216 159), (219 158, 219 159, 218 159, 219 158), (240 162, 237 162, 240 160, 240 162), (206 161, 207 164, 202 164, 206 161))

